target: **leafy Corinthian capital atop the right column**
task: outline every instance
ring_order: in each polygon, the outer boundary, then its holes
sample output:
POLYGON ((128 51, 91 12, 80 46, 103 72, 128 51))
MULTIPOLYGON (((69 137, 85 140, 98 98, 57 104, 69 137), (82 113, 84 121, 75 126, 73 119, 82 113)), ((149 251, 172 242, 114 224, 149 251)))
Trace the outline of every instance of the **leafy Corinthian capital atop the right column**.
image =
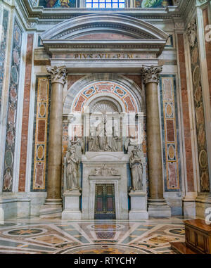
POLYGON ((151 82, 158 83, 160 72, 162 72, 162 66, 143 65, 141 69, 141 76, 143 78, 143 83, 145 84, 148 84, 151 82))

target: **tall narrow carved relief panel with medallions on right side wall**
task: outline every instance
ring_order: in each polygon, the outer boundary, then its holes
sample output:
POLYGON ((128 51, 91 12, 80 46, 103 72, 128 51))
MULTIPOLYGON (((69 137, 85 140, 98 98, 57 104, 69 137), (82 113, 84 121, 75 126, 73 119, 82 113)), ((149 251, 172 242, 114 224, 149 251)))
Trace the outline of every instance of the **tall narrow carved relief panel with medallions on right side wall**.
POLYGON ((207 161, 207 141, 205 134, 205 116, 203 108, 203 91, 200 74, 200 58, 196 20, 188 24, 188 40, 191 52, 191 70, 193 80, 193 98, 196 112, 196 132, 198 143, 198 162, 200 172, 200 191, 210 191, 209 170, 207 161))

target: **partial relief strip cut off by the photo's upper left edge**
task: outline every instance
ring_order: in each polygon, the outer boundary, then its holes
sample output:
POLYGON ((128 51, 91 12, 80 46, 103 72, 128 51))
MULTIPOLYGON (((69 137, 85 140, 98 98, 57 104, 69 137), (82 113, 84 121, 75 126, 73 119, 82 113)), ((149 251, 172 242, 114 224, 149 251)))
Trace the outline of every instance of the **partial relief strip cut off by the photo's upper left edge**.
POLYGON ((7 45, 7 34, 8 34, 8 11, 4 9, 1 40, 0 40, 0 112, 1 112, 1 96, 4 82, 4 68, 5 68, 5 57, 6 57, 6 45, 7 45))

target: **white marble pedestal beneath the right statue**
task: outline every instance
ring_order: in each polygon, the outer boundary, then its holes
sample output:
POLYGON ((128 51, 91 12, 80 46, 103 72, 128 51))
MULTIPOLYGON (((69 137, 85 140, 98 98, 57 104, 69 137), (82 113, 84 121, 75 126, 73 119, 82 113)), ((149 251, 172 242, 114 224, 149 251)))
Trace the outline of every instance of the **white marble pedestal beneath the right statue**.
POLYGON ((148 219, 147 196, 145 191, 130 191, 129 219, 148 219))

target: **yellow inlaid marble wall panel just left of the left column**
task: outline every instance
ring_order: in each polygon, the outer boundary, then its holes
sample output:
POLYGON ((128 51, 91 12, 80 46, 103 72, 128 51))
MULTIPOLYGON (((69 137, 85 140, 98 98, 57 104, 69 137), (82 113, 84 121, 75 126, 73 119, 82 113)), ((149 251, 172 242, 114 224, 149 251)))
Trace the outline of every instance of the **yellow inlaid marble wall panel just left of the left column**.
POLYGON ((37 77, 31 191, 46 190, 50 87, 48 77, 37 77))

